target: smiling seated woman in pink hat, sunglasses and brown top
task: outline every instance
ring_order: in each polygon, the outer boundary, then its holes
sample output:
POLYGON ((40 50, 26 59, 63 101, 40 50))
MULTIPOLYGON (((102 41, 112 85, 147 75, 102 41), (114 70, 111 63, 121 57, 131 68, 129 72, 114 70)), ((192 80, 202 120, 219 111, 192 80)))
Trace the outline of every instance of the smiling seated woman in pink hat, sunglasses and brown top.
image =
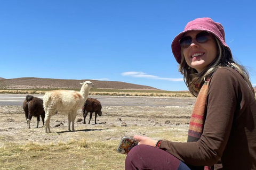
POLYGON ((188 142, 135 135, 125 169, 256 169, 256 101, 249 74, 225 43, 220 23, 190 21, 172 42, 179 71, 197 97, 188 142))

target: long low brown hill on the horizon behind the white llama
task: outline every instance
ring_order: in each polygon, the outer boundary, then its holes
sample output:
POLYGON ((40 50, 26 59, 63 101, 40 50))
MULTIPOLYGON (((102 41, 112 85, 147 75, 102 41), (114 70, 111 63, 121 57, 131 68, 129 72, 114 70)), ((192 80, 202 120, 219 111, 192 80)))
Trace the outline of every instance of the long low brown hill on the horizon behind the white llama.
MULTIPOLYGON (((86 80, 43 78, 0 79, 0 89, 80 89, 80 82, 84 81, 86 80)), ((94 84, 94 88, 98 89, 159 90, 150 86, 142 86, 120 81, 90 81, 94 84)))

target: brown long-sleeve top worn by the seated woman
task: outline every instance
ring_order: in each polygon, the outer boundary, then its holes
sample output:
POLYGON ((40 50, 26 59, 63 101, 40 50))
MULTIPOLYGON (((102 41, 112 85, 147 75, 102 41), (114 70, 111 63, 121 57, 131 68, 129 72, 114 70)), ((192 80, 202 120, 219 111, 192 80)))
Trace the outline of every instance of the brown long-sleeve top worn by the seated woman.
POLYGON ((162 141, 161 149, 194 166, 212 166, 221 158, 223 169, 256 169, 255 128, 252 92, 238 72, 221 67, 209 82, 202 137, 188 143, 162 141))

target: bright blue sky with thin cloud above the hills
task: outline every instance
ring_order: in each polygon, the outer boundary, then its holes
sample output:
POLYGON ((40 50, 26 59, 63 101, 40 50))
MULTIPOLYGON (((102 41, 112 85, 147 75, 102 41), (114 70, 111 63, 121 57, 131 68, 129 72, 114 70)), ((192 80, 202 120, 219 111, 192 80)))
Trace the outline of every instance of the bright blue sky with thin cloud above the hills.
POLYGON ((171 52, 187 22, 225 28, 256 86, 256 1, 0 0, 0 77, 122 81, 187 90, 171 52))

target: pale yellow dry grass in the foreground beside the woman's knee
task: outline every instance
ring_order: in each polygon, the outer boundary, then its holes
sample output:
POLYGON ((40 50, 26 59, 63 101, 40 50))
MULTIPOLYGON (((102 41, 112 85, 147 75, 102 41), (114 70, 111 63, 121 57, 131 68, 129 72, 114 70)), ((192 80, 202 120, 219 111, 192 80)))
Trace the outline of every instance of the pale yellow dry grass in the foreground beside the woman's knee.
MULTIPOLYGON (((124 130, 118 127, 114 129, 114 136, 119 136, 124 130)), ((184 130, 166 127, 138 129, 135 126, 129 129, 151 132, 148 136, 154 139, 186 141, 187 136, 184 130), (168 135, 164 133, 166 130, 170 131, 168 135)), ((88 142, 81 138, 44 145, 36 142, 24 145, 9 143, 0 148, 0 169, 124 169, 126 156, 116 152, 119 140, 101 141, 92 138, 88 142)))

